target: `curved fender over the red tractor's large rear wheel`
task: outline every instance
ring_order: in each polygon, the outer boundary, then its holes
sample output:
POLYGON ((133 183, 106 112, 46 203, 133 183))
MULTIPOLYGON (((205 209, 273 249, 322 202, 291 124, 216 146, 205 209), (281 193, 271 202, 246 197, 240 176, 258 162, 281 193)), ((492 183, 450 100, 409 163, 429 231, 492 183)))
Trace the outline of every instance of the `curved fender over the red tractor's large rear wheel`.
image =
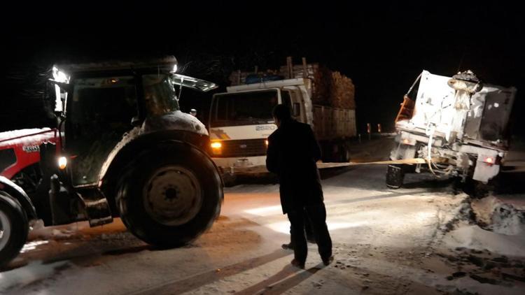
MULTIPOLYGON (((139 154, 139 152, 154 147, 155 145, 158 145, 158 143, 170 141, 193 146, 202 152, 202 157, 209 157, 209 154, 207 154, 209 147, 209 136, 195 134, 195 132, 183 130, 154 131, 128 138, 126 144, 122 145, 120 148, 118 148, 118 150, 117 146, 111 152, 108 159, 106 159, 106 162, 102 166, 101 173, 99 174, 99 180, 107 180, 118 177, 122 169, 127 166, 127 164, 130 163, 134 157, 137 156, 137 154, 139 154)), ((211 162, 214 163, 214 166, 218 171, 215 162, 211 162)))

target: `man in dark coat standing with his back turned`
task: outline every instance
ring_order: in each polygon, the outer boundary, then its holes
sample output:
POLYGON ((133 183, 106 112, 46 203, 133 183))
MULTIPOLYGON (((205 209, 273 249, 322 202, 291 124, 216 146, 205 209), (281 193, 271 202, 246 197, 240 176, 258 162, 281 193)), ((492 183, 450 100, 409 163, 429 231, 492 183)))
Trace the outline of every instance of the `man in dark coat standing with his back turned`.
POLYGON ((304 268, 307 258, 306 214, 323 264, 328 265, 333 260, 332 240, 326 226, 323 189, 316 166, 321 150, 310 126, 293 120, 286 106, 275 106, 272 115, 278 128, 268 138, 266 167, 279 175, 281 206, 291 224, 292 264, 304 268))

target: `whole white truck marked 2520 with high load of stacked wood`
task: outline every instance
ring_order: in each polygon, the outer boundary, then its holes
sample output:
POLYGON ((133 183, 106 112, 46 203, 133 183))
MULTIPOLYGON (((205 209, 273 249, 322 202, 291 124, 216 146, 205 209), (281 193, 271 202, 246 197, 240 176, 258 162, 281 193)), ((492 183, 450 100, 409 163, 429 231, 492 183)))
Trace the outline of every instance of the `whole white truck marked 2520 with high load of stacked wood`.
POLYGON ((211 157, 225 175, 267 172, 267 137, 277 128, 272 108, 280 103, 296 120, 310 124, 323 161, 349 160, 346 146, 356 136, 351 80, 318 64, 290 66, 283 72, 234 73, 227 92, 214 94, 208 122, 211 157))

